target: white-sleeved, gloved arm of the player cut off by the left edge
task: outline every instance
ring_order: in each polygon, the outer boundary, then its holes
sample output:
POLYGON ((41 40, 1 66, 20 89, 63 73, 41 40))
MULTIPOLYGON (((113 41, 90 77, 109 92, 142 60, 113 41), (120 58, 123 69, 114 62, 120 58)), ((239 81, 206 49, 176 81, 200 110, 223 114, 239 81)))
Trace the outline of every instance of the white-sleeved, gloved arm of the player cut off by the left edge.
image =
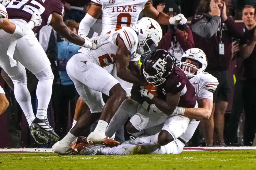
POLYGON ((40 15, 36 15, 33 13, 30 22, 24 25, 17 25, 8 20, 8 13, 6 11, 6 5, 8 5, 11 1, 4 0, 0 4, 0 28, 2 28, 5 32, 10 34, 14 34, 19 37, 23 37, 31 31, 34 27, 40 26, 42 23, 42 19, 40 15))

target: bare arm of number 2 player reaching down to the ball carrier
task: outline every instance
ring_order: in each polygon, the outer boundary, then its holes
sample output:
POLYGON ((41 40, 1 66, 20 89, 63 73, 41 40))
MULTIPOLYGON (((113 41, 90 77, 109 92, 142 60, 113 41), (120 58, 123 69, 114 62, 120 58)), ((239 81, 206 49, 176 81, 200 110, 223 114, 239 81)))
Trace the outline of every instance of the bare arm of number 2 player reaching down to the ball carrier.
POLYGON ((136 76, 131 70, 128 69, 130 63, 130 52, 125 46, 123 39, 117 36, 116 39, 117 52, 116 52, 116 68, 117 76, 126 82, 137 84, 140 86, 146 86, 147 81, 141 76, 136 76))

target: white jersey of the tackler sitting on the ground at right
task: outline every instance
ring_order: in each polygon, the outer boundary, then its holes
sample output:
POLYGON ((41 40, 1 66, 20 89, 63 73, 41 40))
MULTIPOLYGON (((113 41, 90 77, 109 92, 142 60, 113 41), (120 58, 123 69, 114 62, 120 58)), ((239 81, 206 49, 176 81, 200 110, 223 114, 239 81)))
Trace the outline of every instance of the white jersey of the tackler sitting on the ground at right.
MULTIPOLYGON (((213 100, 213 93, 215 92, 219 82, 217 78, 203 72, 202 74, 196 75, 193 78, 189 79, 189 82, 193 85, 196 90, 196 100, 200 99, 211 99, 213 100)), ((183 135, 180 136, 185 142, 188 142, 199 124, 199 120, 193 119, 189 124, 188 128, 183 135)))

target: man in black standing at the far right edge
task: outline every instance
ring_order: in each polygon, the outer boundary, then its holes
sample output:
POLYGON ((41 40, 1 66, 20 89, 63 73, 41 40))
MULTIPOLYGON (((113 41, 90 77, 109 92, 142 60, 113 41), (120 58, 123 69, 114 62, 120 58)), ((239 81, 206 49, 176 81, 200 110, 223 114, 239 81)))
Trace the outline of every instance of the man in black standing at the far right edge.
POLYGON ((245 82, 243 88, 245 128, 244 145, 251 146, 256 133, 256 23, 255 8, 246 5, 242 10, 245 32, 241 39, 241 57, 244 60, 245 82))

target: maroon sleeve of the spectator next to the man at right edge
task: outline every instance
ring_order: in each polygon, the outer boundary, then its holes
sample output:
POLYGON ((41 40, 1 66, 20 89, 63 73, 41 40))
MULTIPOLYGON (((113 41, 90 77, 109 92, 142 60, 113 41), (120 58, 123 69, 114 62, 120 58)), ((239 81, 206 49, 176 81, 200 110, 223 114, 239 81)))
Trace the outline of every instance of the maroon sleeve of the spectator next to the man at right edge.
POLYGON ((227 25, 227 29, 229 30, 228 32, 231 34, 232 37, 242 37, 243 31, 240 29, 238 24, 231 16, 227 17, 225 23, 227 25))

